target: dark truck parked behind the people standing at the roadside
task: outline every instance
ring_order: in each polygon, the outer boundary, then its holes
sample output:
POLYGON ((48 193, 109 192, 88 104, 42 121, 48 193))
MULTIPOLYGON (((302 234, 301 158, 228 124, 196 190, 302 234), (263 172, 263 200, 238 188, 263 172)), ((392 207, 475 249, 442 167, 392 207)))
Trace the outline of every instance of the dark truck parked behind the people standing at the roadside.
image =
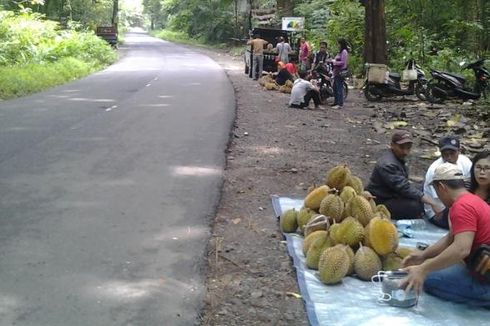
MULTIPOLYGON (((293 32, 285 31, 282 29, 269 29, 269 28, 254 28, 252 30, 251 35, 260 35, 260 38, 272 44, 274 48, 279 42, 279 37, 284 37, 285 40, 288 41, 291 46, 293 52, 289 54, 289 61, 298 60, 298 51, 296 42, 293 40, 293 32)), ((277 62, 276 62, 276 52, 270 52, 264 49, 264 71, 266 72, 276 72, 277 71, 277 62)), ((245 73, 248 74, 249 77, 252 77, 252 46, 247 45, 244 55, 245 61, 245 73)))

